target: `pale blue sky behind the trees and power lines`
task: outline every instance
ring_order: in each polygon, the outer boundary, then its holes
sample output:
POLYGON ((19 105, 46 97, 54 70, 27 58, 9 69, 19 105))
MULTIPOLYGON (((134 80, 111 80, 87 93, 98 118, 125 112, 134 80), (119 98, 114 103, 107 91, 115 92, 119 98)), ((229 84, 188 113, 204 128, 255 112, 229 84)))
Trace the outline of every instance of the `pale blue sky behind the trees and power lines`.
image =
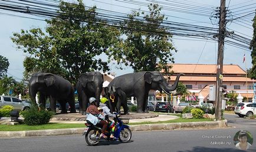
MULTIPOLYGON (((47 0, 49 1, 49 0, 47 0)), ((137 0, 138 2, 139 0, 137 0)), ((173 9, 174 5, 169 5, 172 0, 142 0, 144 4, 149 4, 150 1, 159 2, 159 5, 163 7, 162 13, 168 15, 168 21, 191 23, 193 25, 208 26, 211 28, 218 28, 216 22, 211 23, 209 16, 198 16, 190 13, 178 12, 173 9)), ((74 1, 68 1, 74 2, 74 1)), ((134 2, 134 1, 128 1, 134 2)), ((136 2, 136 0, 135 0, 136 2)), ((214 12, 215 8, 220 5, 220 0, 179 0, 178 2, 184 4, 185 6, 202 6, 203 8, 212 9, 214 12)), ((131 8, 147 10, 146 6, 142 6, 136 3, 130 4, 123 2, 121 0, 87 0, 84 1, 86 6, 96 5, 97 8, 107 9, 116 12, 130 13, 131 8)), ((229 18, 237 18, 253 12, 256 8, 256 0, 227 0, 226 6, 228 6, 229 18), (240 14, 239 14, 240 13, 240 14), (237 16, 235 16, 237 15, 237 16)), ((183 8, 178 8, 182 10, 183 8)), ((45 29, 47 26, 44 21, 38 21, 34 19, 21 18, 17 16, 9 16, 3 13, 11 13, 19 16, 24 16, 22 13, 14 13, 0 10, 0 55, 4 56, 9 60, 8 76, 14 77, 16 80, 21 80, 24 72, 23 60, 26 56, 21 50, 17 50, 17 46, 11 41, 11 36, 14 32, 20 32, 21 29, 31 29, 31 28, 42 28, 45 29)), ((233 22, 227 23, 228 31, 235 31, 238 35, 246 36, 246 38, 252 38, 252 19, 254 15, 246 16, 246 18, 238 19, 233 22)), ((30 16, 35 17, 35 16, 30 16)), ((42 18, 41 18, 42 19, 42 18)), ((192 63, 192 64, 216 64, 216 53, 218 51, 218 43, 212 40, 197 40, 184 38, 182 36, 173 36, 173 45, 178 50, 178 52, 173 52, 173 58, 175 58, 175 63, 192 63)), ((252 67, 251 64, 251 50, 236 48, 234 46, 225 45, 224 48, 224 64, 234 64, 239 65, 245 70, 252 67), (243 63, 243 58, 245 54, 245 62, 243 63)), ((109 64, 110 72, 115 72, 116 76, 123 75, 126 73, 133 72, 131 67, 124 67, 123 70, 116 69, 116 65, 113 63, 109 64)))

